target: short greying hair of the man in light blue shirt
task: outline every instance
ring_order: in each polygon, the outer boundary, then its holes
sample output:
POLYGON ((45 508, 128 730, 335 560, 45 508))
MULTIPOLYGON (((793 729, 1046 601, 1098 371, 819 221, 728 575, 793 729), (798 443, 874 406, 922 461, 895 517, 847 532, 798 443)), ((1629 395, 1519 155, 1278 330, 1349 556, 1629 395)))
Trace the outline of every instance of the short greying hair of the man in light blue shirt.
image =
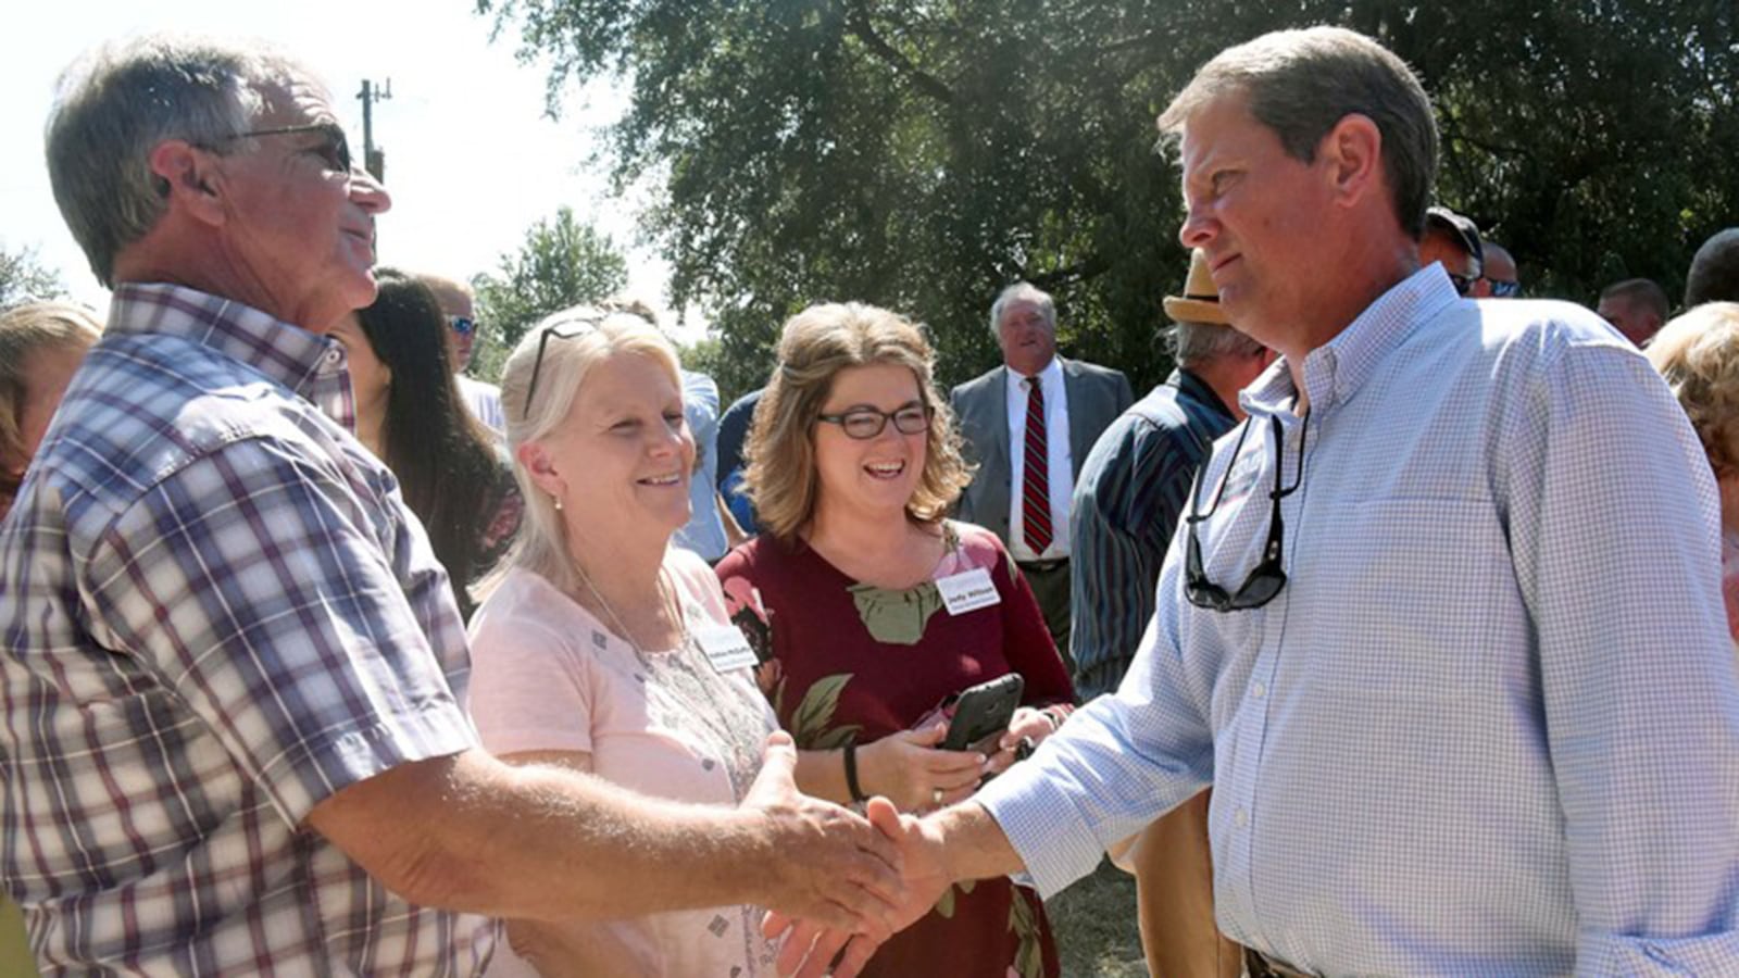
POLYGON ((1348 115, 1376 122, 1395 216, 1414 238, 1424 230, 1436 181, 1436 120, 1419 78, 1391 50, 1344 28, 1266 33, 1203 64, 1160 115, 1160 129, 1183 132, 1189 117, 1226 94, 1245 96, 1250 115, 1306 164, 1348 115))

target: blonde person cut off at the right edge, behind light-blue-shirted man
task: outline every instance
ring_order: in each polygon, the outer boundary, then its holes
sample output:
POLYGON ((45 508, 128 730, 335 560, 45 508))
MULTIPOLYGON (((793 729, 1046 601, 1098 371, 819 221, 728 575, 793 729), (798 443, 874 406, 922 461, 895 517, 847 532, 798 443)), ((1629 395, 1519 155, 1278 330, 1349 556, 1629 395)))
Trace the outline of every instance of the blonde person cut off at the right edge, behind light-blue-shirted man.
POLYGON ((1661 327, 1645 350, 1666 378, 1722 494, 1722 597, 1739 642, 1739 303, 1704 303, 1661 327))

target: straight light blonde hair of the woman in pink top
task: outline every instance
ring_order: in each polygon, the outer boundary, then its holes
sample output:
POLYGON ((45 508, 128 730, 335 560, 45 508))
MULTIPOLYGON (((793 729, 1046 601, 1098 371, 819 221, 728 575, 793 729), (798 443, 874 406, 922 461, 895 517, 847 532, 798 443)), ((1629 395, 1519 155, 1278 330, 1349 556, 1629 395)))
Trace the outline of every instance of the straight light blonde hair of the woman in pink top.
POLYGON ((501 409, 508 416, 513 477, 525 498, 520 539, 504 564, 543 574, 565 592, 581 586, 567 529, 555 503, 525 472, 518 449, 562 425, 586 374, 616 353, 647 357, 670 371, 676 386, 682 386, 676 352, 656 325, 642 315, 600 306, 572 306, 544 317, 520 338, 501 372, 501 409), (534 372, 536 392, 530 390, 534 372), (530 411, 525 404, 529 395, 530 411))

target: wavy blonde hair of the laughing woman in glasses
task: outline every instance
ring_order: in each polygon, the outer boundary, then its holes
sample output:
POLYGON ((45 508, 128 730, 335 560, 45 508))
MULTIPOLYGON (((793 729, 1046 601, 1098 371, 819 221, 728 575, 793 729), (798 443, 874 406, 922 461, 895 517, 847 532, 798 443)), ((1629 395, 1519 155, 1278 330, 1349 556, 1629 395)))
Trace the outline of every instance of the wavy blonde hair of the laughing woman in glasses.
POLYGON ((779 336, 779 365, 755 405, 755 425, 744 449, 744 482, 762 529, 790 541, 816 513, 816 418, 840 371, 871 364, 909 369, 923 404, 934 409, 925 435, 923 472, 906 501, 906 515, 916 522, 939 522, 972 480, 972 470, 960 456, 953 416, 936 393, 934 360, 920 327, 876 306, 816 305, 786 320, 779 336))

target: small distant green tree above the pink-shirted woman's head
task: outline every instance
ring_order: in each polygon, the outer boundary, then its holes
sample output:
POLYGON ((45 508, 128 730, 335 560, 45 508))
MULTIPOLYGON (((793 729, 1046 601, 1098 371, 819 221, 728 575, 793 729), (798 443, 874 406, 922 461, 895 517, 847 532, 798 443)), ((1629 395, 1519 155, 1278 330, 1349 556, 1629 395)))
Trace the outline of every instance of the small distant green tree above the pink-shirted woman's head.
POLYGON ((471 280, 483 324, 471 372, 497 379, 506 355, 539 318, 595 303, 626 284, 628 259, 609 235, 576 221, 572 209, 562 207, 553 221, 537 221, 516 254, 501 256, 496 273, 471 280))

